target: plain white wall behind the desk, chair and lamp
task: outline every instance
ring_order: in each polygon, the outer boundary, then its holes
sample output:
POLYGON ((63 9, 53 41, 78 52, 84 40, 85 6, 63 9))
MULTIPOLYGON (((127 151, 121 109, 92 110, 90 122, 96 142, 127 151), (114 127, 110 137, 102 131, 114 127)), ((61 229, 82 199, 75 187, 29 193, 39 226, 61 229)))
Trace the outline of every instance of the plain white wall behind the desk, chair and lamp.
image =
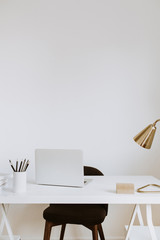
MULTIPOLYGON (((35 148, 80 148, 106 175, 160 177, 160 134, 150 151, 132 140, 160 117, 159 12, 156 0, 0 1, 1 172, 29 158, 34 179, 35 148)), ((12 206, 14 232, 40 237, 44 208, 12 206)), ((106 237, 124 235, 130 209, 110 206, 106 237)))

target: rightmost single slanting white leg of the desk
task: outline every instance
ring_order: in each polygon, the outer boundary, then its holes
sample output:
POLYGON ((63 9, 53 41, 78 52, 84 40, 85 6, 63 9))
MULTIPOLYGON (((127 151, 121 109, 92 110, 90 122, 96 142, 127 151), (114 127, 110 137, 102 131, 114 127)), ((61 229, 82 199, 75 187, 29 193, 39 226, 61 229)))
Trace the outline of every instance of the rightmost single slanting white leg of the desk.
POLYGON ((146 205, 146 217, 147 217, 147 225, 151 234, 151 239, 152 240, 157 240, 157 236, 155 233, 155 229, 153 226, 153 222, 152 222, 152 207, 151 204, 147 204, 146 205))

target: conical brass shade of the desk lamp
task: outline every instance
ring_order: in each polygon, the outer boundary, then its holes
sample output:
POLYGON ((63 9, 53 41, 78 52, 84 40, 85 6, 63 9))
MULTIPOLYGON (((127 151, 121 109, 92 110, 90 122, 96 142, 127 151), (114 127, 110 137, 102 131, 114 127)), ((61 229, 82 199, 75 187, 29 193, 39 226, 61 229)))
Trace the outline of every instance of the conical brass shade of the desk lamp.
POLYGON ((138 133, 133 139, 141 147, 150 149, 155 132, 156 132, 155 125, 150 124, 145 129, 143 129, 140 133, 138 133))

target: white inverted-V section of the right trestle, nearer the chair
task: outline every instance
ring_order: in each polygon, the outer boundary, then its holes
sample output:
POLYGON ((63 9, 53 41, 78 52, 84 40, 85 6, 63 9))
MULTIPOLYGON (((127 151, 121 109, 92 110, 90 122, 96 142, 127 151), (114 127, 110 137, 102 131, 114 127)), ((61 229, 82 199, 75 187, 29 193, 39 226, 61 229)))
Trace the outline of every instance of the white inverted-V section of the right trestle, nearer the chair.
POLYGON ((134 209, 133 209, 133 212, 132 212, 132 216, 131 216, 131 220, 130 220, 130 223, 128 225, 128 229, 127 229, 127 234, 126 234, 125 240, 129 240, 130 232, 131 232, 132 226, 134 224, 134 221, 135 221, 135 218, 136 218, 136 214, 137 214, 137 217, 138 217, 138 220, 139 220, 139 224, 141 226, 144 225, 140 206, 139 206, 139 204, 136 204, 134 206, 134 209))

